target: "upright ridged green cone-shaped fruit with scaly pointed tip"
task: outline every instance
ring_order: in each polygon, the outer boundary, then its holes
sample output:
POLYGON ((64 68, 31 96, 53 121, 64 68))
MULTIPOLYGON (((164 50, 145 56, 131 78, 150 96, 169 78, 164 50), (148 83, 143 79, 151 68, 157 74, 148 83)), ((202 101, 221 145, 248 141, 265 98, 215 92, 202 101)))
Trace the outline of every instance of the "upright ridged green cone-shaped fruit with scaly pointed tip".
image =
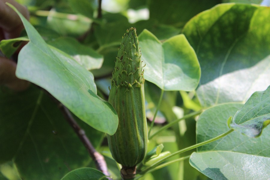
POLYGON ((135 28, 127 30, 122 38, 109 102, 115 108, 119 124, 116 133, 108 136, 113 158, 122 165, 124 179, 134 178, 136 165, 147 149, 147 124, 144 100, 144 78, 139 41, 135 28))

